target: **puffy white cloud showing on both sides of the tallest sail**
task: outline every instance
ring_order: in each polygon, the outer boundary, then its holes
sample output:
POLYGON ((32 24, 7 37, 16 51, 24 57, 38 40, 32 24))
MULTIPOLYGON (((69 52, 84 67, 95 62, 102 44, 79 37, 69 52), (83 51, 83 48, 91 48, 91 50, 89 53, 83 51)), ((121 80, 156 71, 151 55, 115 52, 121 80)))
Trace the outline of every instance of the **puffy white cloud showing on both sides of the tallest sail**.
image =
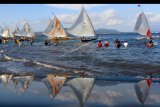
MULTIPOLYGON (((59 14, 57 17, 64 27, 70 27, 75 22, 78 15, 79 14, 59 14)), ((100 13, 92 12, 88 13, 88 15, 95 28, 116 26, 124 23, 124 19, 119 18, 116 10, 113 9, 107 9, 100 13)))

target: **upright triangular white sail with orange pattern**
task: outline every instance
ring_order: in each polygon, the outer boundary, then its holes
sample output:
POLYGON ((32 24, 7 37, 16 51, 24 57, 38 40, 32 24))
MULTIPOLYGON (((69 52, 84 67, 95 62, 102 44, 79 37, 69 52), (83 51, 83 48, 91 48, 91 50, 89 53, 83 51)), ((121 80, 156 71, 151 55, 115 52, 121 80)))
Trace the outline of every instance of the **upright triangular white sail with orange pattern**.
POLYGON ((50 32, 50 38, 65 38, 67 33, 56 16, 54 16, 54 26, 50 32))

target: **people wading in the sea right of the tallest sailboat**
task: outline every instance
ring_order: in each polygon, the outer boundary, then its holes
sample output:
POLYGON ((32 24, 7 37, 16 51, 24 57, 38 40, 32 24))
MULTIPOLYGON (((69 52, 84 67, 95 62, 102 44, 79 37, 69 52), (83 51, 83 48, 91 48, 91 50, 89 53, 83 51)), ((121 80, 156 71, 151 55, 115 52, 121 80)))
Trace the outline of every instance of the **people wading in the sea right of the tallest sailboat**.
MULTIPOLYGON (((122 46, 122 43, 123 43, 123 45, 124 45, 125 48, 128 47, 128 41, 122 42, 122 41, 116 39, 113 43, 115 44, 115 47, 117 47, 117 48, 120 48, 120 47, 122 46)), ((102 42, 101 42, 101 40, 98 41, 98 44, 97 44, 97 45, 98 45, 98 47, 102 47, 102 42)), ((151 47, 153 47, 154 44, 153 44, 153 41, 150 40, 148 43, 145 42, 145 45, 146 45, 148 48, 151 48, 151 47)), ((105 41, 105 42, 104 42, 104 46, 105 46, 105 47, 108 47, 108 46, 109 46, 109 42, 108 42, 108 41, 105 41)))

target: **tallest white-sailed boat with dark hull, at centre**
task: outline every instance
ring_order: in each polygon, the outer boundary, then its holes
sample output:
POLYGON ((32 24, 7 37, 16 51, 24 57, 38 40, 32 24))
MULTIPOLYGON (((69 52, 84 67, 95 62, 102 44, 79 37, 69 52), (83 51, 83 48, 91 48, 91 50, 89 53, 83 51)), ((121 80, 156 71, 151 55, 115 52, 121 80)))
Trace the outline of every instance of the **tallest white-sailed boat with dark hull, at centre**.
POLYGON ((67 29, 69 35, 80 37, 82 42, 96 40, 97 35, 90 21, 90 18, 82 6, 82 10, 71 28, 67 29))

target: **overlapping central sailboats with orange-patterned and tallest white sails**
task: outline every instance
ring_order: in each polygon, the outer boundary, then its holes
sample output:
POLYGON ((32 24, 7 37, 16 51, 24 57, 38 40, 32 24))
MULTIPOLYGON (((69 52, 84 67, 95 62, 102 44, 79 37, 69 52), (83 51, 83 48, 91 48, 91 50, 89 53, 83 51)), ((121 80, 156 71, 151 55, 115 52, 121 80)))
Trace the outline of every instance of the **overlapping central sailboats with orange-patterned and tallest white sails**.
POLYGON ((43 34, 48 36, 48 39, 53 40, 53 42, 75 38, 81 38, 82 42, 97 39, 94 27, 84 7, 82 7, 80 15, 70 28, 64 29, 58 18, 54 15, 54 18, 49 20, 49 24, 43 34))

